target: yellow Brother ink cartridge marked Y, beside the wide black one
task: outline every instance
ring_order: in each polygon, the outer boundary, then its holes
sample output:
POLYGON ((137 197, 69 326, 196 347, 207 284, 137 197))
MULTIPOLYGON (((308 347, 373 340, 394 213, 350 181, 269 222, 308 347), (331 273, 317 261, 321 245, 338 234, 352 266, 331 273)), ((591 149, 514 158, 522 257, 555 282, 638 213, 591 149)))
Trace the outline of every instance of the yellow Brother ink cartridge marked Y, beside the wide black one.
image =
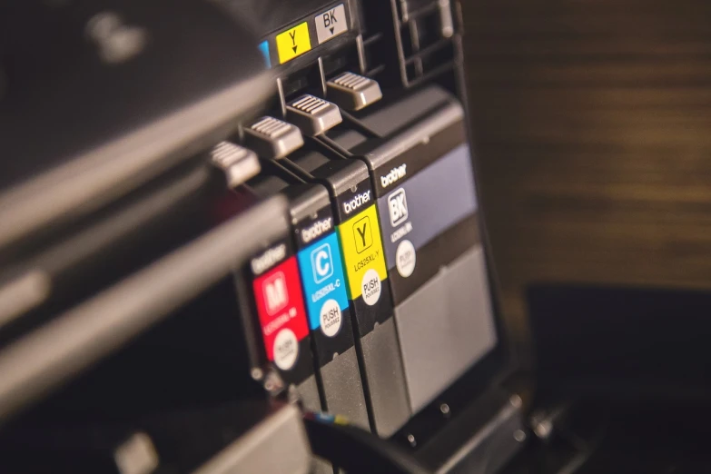
POLYGON ((368 169, 357 160, 313 149, 301 149, 280 163, 307 181, 324 184, 331 196, 370 424, 380 436, 390 436, 410 419, 410 403, 368 169))

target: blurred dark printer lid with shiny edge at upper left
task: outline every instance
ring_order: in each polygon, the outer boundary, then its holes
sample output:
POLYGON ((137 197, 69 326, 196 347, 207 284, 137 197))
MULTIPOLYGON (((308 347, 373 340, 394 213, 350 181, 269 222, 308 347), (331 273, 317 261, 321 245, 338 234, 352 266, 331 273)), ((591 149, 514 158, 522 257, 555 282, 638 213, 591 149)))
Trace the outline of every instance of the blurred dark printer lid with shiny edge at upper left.
POLYGON ((207 2, 15 2, 0 30, 4 267, 232 133, 273 87, 256 40, 207 2))

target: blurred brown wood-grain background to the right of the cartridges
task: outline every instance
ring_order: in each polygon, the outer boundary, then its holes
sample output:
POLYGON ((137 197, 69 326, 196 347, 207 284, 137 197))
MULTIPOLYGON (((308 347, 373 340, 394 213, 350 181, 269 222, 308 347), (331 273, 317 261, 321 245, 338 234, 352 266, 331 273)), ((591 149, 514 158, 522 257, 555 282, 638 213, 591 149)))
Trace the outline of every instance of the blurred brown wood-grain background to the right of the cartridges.
POLYGON ((462 11, 482 208, 524 355, 533 283, 711 289, 711 2, 462 11))

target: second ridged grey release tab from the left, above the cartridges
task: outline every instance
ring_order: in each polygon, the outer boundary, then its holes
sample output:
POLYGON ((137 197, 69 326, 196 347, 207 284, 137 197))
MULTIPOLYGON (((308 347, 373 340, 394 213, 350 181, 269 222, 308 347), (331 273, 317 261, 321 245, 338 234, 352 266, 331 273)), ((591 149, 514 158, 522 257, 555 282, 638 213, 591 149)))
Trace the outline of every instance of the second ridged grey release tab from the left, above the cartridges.
POLYGON ((301 131, 291 123, 262 117, 244 130, 244 143, 262 158, 283 158, 303 145, 301 131))

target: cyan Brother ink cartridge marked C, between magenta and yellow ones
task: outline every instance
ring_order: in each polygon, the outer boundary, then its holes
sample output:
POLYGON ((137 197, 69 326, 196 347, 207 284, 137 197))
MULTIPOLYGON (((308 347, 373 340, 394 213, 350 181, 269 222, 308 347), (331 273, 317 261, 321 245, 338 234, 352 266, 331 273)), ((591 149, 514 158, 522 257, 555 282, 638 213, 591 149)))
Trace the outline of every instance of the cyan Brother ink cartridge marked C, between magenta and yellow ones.
POLYGON ((250 181, 248 187, 262 196, 281 193, 289 200, 291 235, 297 251, 323 409, 344 415, 351 423, 368 429, 348 283, 329 193, 321 184, 294 183, 277 163, 264 163, 264 172, 250 181))

